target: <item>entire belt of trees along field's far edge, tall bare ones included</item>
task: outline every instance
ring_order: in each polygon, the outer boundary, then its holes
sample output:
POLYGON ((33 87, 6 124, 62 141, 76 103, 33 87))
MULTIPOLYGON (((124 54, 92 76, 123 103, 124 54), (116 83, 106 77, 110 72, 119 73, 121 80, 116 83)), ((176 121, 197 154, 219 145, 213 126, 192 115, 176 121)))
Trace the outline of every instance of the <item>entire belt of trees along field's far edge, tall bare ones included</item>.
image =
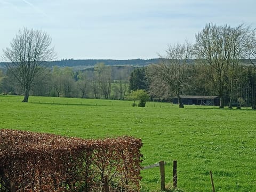
POLYGON ((208 23, 196 34, 195 44, 169 45, 166 56, 158 55, 156 63, 140 68, 102 62, 78 71, 45 68, 42 61, 54 58, 50 43, 42 31, 20 30, 12 48, 4 51, 10 62, 6 73, 0 73, 0 91, 24 94, 27 102, 29 94, 123 100, 130 91, 142 89, 151 99, 177 97, 179 107, 183 107, 180 95, 187 94, 218 95, 220 108, 232 108, 239 100, 255 109, 256 38, 250 26, 208 23), (41 43, 43 51, 38 52, 36 43, 41 43))

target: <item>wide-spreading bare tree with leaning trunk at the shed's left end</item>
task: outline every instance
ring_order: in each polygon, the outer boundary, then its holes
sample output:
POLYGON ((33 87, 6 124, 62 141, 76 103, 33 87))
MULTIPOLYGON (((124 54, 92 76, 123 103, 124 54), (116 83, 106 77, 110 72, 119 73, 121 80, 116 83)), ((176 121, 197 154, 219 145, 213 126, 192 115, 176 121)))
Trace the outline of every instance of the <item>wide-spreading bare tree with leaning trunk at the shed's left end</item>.
POLYGON ((183 108, 180 98, 183 87, 188 82, 188 61, 192 56, 193 46, 184 44, 169 45, 167 58, 162 58, 158 65, 151 65, 147 74, 150 82, 150 93, 158 98, 178 98, 179 107, 183 108))

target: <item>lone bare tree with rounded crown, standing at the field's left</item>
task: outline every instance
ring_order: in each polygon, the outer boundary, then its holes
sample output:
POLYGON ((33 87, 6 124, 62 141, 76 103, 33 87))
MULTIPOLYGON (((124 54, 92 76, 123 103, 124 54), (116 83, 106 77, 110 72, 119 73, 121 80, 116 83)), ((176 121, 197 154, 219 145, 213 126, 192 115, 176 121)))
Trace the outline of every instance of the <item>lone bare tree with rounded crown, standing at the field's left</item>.
POLYGON ((44 61, 53 60, 55 52, 51 37, 41 30, 23 28, 12 39, 11 48, 4 51, 7 69, 15 76, 24 92, 22 102, 28 102, 35 76, 44 68, 44 61))

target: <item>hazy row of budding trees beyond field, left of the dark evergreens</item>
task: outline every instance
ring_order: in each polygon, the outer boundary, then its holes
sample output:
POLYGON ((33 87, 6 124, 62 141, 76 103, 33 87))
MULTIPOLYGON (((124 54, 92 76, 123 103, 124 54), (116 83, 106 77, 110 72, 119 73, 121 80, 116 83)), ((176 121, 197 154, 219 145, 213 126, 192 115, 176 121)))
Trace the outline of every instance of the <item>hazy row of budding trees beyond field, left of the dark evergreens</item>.
MULTIPOLYGON (((45 68, 35 77, 30 95, 124 100, 129 91, 132 70, 132 66, 106 66, 104 63, 79 71, 71 67, 45 68)), ((2 73, 2 77, 2 93, 23 94, 22 87, 12 73, 2 73)))

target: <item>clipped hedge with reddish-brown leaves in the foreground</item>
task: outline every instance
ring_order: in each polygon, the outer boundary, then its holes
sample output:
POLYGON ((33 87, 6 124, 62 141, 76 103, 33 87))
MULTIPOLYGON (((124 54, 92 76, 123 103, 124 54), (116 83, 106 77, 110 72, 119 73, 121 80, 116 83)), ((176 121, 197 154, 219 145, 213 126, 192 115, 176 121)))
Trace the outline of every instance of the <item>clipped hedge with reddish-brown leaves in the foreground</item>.
POLYGON ((139 191, 141 139, 0 130, 0 191, 139 191))

